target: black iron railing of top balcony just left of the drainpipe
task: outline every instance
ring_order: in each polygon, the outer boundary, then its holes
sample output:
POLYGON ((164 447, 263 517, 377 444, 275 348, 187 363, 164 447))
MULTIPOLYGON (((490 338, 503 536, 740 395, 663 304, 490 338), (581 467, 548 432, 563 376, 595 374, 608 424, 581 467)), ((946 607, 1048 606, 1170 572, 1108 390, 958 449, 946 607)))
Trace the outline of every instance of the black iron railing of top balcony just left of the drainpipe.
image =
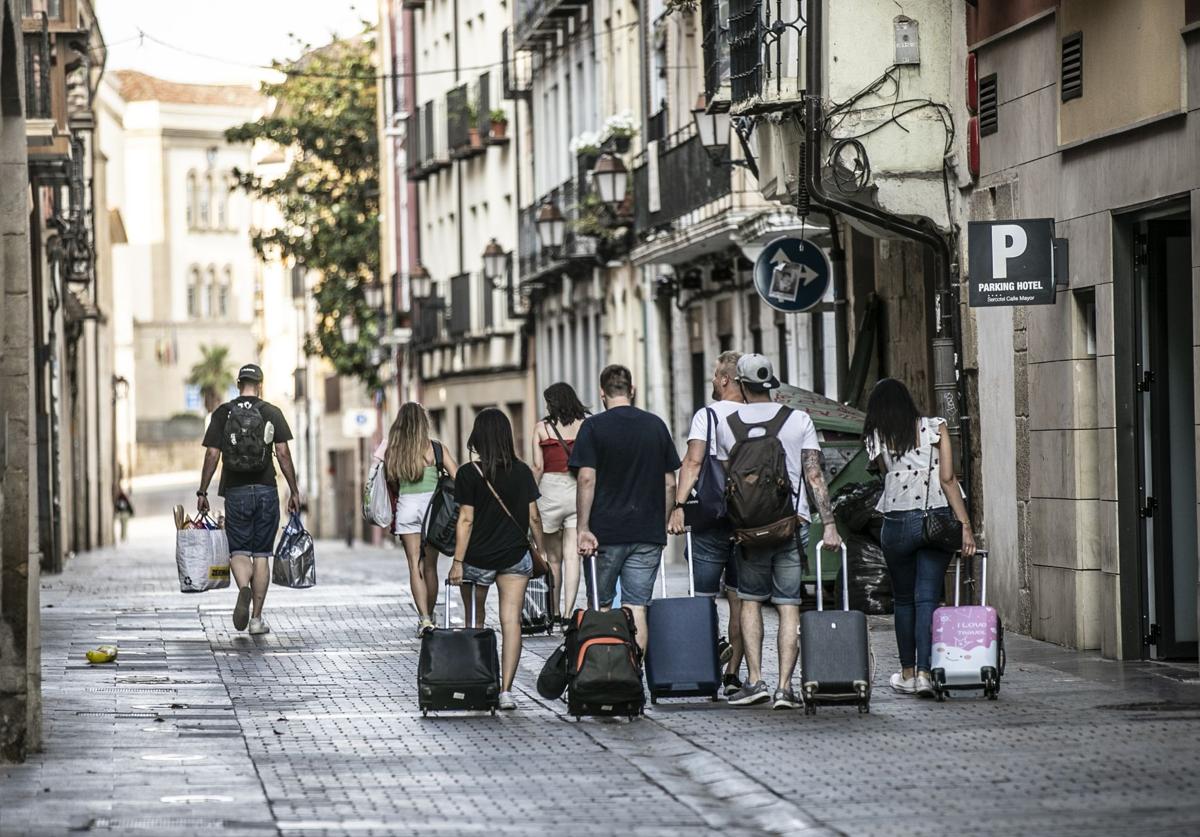
POLYGON ((730 0, 733 109, 761 113, 799 102, 804 90, 804 0, 730 0))

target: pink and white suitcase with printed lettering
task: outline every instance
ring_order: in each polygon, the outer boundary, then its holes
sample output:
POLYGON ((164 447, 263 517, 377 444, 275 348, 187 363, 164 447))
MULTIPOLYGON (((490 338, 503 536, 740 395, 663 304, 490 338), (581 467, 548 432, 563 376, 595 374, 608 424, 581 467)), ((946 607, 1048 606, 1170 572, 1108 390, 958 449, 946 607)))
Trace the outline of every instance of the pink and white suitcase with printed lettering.
POLYGON ((988 607, 988 553, 978 553, 979 604, 959 604, 962 555, 954 565, 954 607, 934 610, 934 649, 930 675, 938 700, 954 690, 982 688, 989 700, 1000 696, 1004 674, 1004 628, 996 608, 988 607))

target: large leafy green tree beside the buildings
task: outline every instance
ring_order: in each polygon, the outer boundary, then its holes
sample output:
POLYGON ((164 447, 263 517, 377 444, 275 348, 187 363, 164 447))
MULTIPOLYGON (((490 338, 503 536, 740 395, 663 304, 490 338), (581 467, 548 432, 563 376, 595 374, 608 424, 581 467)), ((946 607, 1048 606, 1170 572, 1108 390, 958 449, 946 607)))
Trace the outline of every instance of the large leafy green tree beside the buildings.
POLYGON ((274 62, 287 74, 264 84, 274 108, 226 132, 230 143, 270 143, 287 152, 280 176, 235 170, 238 186, 275 204, 278 229, 252 230, 260 258, 294 259, 318 271, 317 323, 305 349, 329 359, 338 373, 379 385, 370 349, 380 323, 362 287, 379 270, 379 144, 376 134, 374 38, 361 36, 308 49, 299 60, 274 62), (350 315, 359 338, 346 343, 338 323, 350 315))

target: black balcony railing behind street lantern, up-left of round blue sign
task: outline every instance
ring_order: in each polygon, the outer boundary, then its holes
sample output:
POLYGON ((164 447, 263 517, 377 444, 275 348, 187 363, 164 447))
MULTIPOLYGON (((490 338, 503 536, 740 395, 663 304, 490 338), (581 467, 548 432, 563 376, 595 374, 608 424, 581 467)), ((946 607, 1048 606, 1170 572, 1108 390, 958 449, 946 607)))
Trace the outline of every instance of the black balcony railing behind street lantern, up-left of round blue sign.
POLYGON ((634 230, 638 235, 701 210, 731 192, 731 168, 713 163, 691 127, 676 132, 664 145, 659 149, 656 183, 650 181, 654 167, 649 161, 635 163, 634 230))

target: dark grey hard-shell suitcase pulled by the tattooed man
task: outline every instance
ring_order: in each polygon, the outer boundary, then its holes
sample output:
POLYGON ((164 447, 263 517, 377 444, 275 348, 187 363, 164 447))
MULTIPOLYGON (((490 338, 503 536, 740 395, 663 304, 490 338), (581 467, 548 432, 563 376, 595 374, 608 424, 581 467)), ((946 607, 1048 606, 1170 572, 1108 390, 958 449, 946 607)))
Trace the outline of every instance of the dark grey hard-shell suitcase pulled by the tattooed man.
POLYGON ((866 614, 850 609, 846 544, 841 544, 841 610, 826 610, 821 590, 821 553, 817 554, 817 609, 800 615, 800 691, 804 713, 821 703, 858 704, 871 711, 871 648, 866 614))

